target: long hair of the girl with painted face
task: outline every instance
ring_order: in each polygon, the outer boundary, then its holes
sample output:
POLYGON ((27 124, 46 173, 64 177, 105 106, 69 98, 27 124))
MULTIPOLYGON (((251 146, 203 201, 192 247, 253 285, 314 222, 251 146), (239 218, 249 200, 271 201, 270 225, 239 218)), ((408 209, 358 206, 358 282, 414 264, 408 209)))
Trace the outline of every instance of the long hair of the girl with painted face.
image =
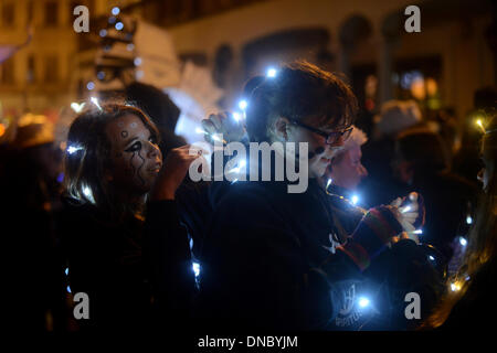
POLYGON ((154 122, 138 108, 119 104, 103 105, 102 109, 82 113, 72 122, 67 136, 64 186, 67 195, 80 203, 92 203, 112 218, 119 220, 126 213, 136 213, 140 205, 116 202, 114 190, 107 184, 105 171, 110 164, 112 142, 106 126, 125 115, 137 116, 158 140, 154 122))

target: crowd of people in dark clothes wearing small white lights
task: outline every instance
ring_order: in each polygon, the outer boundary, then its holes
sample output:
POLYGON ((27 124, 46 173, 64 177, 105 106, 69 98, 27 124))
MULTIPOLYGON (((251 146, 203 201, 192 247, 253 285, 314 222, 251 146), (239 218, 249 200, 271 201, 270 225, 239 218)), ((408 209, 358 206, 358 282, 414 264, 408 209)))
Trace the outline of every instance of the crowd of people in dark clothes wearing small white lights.
MULTIPOLYGON (((288 180, 192 181, 190 167, 209 151, 175 135, 179 110, 142 84, 127 87, 124 100, 88 104, 64 151, 47 121, 18 122, 0 147, 0 212, 15 228, 7 236, 19 303, 12 328, 484 324, 479 315, 495 311, 485 307, 497 269, 495 93, 477 107, 479 128, 465 126, 459 150, 447 119, 423 117, 415 101, 357 118, 351 88, 306 62, 255 76, 244 93, 244 119, 210 116, 207 140, 307 143, 305 192, 288 193, 288 180), (368 135, 357 127, 368 124, 368 135), (476 172, 459 172, 464 161, 482 162, 483 188, 476 172), (78 319, 81 292, 89 314, 78 319), (409 293, 420 300, 412 315, 409 293)), ((274 174, 274 160, 255 168, 274 174)))

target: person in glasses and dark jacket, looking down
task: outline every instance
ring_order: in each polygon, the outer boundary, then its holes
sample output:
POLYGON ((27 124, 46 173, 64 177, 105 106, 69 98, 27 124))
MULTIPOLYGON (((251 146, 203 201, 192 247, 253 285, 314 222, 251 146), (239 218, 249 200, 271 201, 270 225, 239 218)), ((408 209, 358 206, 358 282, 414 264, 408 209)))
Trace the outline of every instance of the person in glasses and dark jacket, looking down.
POLYGON ((258 81, 246 110, 250 141, 308 143, 308 189, 288 193, 286 181, 213 183, 200 321, 219 328, 326 329, 402 224, 419 221, 417 206, 414 202, 409 220, 393 206, 372 208, 345 245, 335 244, 329 200, 318 179, 351 132, 356 97, 337 76, 308 63, 258 81))

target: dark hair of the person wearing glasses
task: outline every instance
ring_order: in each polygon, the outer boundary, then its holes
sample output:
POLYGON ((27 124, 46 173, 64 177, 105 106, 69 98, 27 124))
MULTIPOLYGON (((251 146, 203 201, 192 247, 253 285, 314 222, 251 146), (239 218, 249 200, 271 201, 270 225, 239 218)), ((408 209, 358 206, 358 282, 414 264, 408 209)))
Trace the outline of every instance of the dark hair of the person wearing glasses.
POLYGON ((351 125, 357 109, 357 98, 343 81, 307 62, 295 62, 252 90, 246 128, 252 141, 268 141, 267 127, 277 117, 314 118, 321 128, 336 128, 351 125))

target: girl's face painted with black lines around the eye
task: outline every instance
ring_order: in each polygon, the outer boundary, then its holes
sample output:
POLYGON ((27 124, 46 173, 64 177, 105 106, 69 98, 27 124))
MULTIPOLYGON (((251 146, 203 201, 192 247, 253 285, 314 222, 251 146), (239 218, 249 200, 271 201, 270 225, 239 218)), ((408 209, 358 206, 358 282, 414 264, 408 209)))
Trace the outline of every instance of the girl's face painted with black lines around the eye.
POLYGON ((125 115, 106 127, 112 145, 108 179, 120 190, 145 194, 162 167, 155 137, 135 115, 125 115))

